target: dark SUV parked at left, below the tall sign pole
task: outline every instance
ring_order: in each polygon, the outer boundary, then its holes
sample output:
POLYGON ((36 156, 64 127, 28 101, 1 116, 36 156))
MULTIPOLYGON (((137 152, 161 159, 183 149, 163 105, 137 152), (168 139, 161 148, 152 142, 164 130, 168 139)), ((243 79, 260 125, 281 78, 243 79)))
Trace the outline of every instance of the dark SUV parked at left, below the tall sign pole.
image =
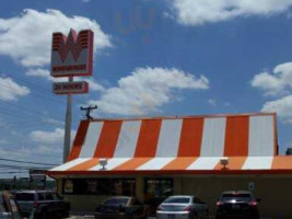
POLYGON ((35 219, 68 217, 70 204, 55 192, 23 191, 15 193, 15 199, 23 217, 28 217, 34 210, 35 219))

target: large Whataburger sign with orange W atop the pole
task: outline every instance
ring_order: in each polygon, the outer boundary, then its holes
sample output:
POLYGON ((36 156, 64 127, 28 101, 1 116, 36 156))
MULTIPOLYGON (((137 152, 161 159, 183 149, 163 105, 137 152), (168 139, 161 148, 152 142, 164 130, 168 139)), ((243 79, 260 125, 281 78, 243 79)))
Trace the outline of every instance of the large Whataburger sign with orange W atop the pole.
POLYGON ((70 30, 68 37, 62 33, 52 34, 52 77, 92 76, 93 32, 70 30))

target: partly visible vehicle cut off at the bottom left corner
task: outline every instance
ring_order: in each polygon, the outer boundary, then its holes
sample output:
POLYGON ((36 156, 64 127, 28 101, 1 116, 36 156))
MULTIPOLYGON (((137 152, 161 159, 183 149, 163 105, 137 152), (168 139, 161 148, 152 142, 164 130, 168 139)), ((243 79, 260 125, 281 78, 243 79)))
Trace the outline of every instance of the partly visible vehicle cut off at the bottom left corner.
POLYGON ((1 219, 21 219, 20 208, 13 195, 8 192, 0 193, 0 218, 1 219))

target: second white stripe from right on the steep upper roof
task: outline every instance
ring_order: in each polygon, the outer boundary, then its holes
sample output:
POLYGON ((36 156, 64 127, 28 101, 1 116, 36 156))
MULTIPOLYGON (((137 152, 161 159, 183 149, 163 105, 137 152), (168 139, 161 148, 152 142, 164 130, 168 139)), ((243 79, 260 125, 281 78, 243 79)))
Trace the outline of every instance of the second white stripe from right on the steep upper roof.
POLYGON ((226 117, 205 118, 201 155, 222 157, 224 153, 226 117))

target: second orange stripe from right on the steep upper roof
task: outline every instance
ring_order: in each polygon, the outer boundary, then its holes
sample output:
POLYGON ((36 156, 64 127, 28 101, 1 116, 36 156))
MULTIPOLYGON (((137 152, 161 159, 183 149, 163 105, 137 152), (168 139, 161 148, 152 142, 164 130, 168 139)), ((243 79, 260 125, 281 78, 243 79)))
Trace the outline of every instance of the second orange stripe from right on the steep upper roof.
POLYGON ((185 118, 183 122, 178 157, 199 157, 201 151, 203 118, 185 118))

